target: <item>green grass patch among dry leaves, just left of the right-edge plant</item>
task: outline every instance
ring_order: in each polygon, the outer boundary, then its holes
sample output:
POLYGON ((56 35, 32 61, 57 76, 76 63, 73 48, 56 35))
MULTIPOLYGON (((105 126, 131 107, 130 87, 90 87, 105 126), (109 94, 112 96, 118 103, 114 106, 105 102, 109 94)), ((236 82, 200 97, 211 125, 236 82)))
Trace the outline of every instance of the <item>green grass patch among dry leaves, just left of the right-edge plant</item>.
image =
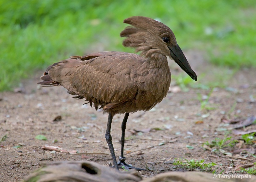
POLYGON ((235 144, 237 143, 237 140, 231 140, 232 136, 227 137, 225 136, 224 139, 220 138, 215 138, 211 143, 204 142, 203 145, 208 145, 209 147, 213 148, 215 147, 216 149, 220 150, 224 147, 234 147, 235 144))

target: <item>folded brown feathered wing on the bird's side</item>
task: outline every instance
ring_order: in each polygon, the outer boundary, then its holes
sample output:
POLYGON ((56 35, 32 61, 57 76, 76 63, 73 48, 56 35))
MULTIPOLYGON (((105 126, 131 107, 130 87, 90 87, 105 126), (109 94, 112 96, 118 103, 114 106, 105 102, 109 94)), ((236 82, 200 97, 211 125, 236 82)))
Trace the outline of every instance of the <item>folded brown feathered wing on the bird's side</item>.
POLYGON ((138 88, 132 77, 141 64, 142 59, 136 54, 101 52, 71 57, 52 66, 48 74, 53 81, 94 104, 119 104, 136 96, 138 88))

